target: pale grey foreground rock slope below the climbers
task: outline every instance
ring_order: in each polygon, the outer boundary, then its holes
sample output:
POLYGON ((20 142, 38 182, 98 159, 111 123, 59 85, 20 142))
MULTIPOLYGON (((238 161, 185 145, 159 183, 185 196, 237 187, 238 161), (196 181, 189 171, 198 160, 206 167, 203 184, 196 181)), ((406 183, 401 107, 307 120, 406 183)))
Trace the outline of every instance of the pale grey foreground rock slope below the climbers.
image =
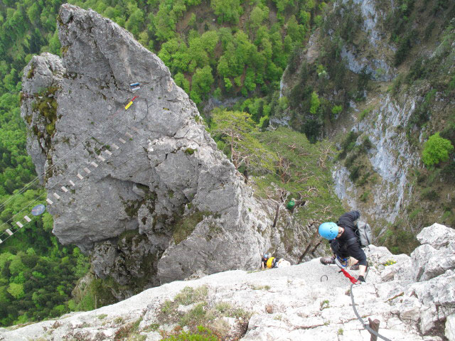
MULTIPOLYGON (((454 340, 454 269, 416 283, 411 271, 416 264, 409 261, 409 256, 393 255, 384 247, 373 245, 367 256, 370 264, 367 282, 352 288, 355 307, 363 320, 367 317, 380 320, 380 335, 394 341, 442 341, 437 336, 441 329, 434 329, 437 323, 443 324, 445 337, 454 340), (387 261, 396 263, 385 266, 387 261), (382 280, 387 269, 402 266, 409 268, 406 278, 394 276, 382 280)), ((357 271, 349 272, 357 276, 357 271)), ((207 309, 223 303, 252 314, 240 340, 370 340, 370 334, 353 311, 350 282, 338 273, 336 266, 323 266, 319 259, 282 269, 253 273, 227 271, 192 281, 167 283, 90 312, 71 313, 58 320, 15 330, 0 328, 0 340, 38 337, 40 340, 65 340, 65 337, 115 340, 119 330, 137 321, 138 335, 146 340, 161 340, 160 330, 171 331, 176 327, 175 323, 162 319, 162 311, 164 307, 169 309, 168 303, 175 301, 177 294, 188 286, 206 286, 207 296, 201 299, 207 309)), ((180 303, 176 305, 176 313, 183 318, 196 305, 180 303)), ((223 320, 233 333, 231 336, 238 336, 237 327, 245 323, 241 318, 223 320)))

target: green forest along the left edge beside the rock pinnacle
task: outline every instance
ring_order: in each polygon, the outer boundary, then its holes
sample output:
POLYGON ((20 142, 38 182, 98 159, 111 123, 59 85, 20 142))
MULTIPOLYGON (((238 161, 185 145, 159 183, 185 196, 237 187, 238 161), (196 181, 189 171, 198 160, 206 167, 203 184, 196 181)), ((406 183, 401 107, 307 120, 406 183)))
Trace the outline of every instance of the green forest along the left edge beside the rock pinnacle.
MULTIPOLYGON (((55 19, 60 3, 0 3, 0 232, 30 202, 45 197, 38 182, 21 190, 36 173, 26 152, 20 79, 33 54, 59 53, 55 19)), ((59 244, 52 226, 52 217, 45 213, 0 245, 0 326, 43 320, 75 309, 71 291, 87 272, 88 259, 79 249, 59 244)))

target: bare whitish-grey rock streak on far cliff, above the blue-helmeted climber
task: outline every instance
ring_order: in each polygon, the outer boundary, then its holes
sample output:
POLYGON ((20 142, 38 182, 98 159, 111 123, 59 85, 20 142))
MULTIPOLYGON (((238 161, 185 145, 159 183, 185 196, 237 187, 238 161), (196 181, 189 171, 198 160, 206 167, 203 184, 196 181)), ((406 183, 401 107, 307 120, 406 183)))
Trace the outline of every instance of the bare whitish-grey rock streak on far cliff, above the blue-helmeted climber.
MULTIPOLYGON (((378 182, 371 190, 374 205, 363 207, 362 212, 373 217, 373 220, 394 222, 402 207, 410 202, 412 185, 409 170, 420 163, 419 154, 412 151, 406 131, 401 129, 414 112, 416 98, 409 95, 404 104, 400 104, 387 95, 379 101, 368 116, 353 128, 353 131, 360 133, 357 144, 366 136, 374 146, 368 152, 368 159, 378 175, 378 182)), ((348 170, 338 165, 333 171, 333 178, 338 197, 349 203, 350 207, 357 207, 356 198, 361 193, 350 180, 348 170)))

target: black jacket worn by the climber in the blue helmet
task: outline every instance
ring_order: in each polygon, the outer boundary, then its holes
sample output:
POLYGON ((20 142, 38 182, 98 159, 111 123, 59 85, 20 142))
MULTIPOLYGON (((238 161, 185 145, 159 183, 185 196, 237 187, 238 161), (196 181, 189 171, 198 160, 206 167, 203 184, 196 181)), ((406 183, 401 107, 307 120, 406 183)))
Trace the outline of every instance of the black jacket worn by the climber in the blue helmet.
POLYGON ((358 220, 360 213, 358 211, 350 211, 345 213, 338 219, 338 226, 343 227, 344 232, 340 237, 331 241, 331 248, 341 258, 351 256, 358 260, 359 265, 367 265, 367 256, 360 244, 357 241, 357 236, 354 232, 354 222, 358 220))

